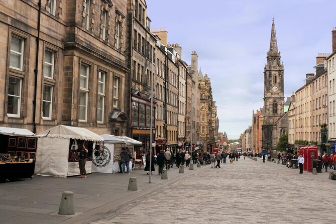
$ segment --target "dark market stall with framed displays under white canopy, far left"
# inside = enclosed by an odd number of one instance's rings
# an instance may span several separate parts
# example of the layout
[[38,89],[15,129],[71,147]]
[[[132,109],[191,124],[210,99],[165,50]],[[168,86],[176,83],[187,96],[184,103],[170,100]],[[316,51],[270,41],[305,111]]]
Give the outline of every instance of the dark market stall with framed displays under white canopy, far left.
[[37,141],[27,129],[0,127],[0,181],[32,177]]

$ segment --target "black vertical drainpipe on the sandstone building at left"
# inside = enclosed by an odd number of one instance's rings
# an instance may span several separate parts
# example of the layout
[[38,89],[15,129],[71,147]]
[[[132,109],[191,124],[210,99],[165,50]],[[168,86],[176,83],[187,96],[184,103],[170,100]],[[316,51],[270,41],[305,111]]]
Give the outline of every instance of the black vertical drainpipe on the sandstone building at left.
[[37,21],[37,38],[36,38],[36,58],[35,58],[35,85],[34,85],[34,100],[33,100],[33,124],[34,129],[33,132],[36,134],[36,98],[37,98],[37,77],[38,77],[38,65],[39,65],[39,46],[40,46],[40,25],[41,25],[41,0],[37,4],[39,6],[39,14],[38,14],[38,21]]

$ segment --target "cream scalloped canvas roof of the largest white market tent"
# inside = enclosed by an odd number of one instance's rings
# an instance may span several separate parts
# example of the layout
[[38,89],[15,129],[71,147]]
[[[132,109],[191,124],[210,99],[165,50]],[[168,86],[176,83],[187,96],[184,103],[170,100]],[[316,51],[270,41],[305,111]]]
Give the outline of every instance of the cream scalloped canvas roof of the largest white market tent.
[[46,131],[39,133],[41,137],[48,138],[64,138],[64,139],[80,139],[91,141],[104,141],[99,135],[78,127],[71,127],[65,125],[58,125]]

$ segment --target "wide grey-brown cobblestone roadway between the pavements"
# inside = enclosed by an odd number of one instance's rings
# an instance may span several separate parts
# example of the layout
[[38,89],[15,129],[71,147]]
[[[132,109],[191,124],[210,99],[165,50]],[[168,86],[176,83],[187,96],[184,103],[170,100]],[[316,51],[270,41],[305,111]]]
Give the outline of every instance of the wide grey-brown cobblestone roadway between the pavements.
[[91,223],[332,223],[335,184],[325,172],[242,157],[194,170]]

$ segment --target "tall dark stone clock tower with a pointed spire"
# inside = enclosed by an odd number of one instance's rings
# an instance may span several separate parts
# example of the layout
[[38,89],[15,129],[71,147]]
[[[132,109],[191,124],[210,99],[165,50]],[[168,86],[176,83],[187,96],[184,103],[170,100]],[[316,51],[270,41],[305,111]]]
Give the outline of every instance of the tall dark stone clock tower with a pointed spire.
[[279,137],[286,132],[284,112],[284,66],[281,63],[275,34],[274,19],[272,21],[270,50],[267,52],[267,63],[264,68],[264,123],[262,138],[264,149],[275,149]]

